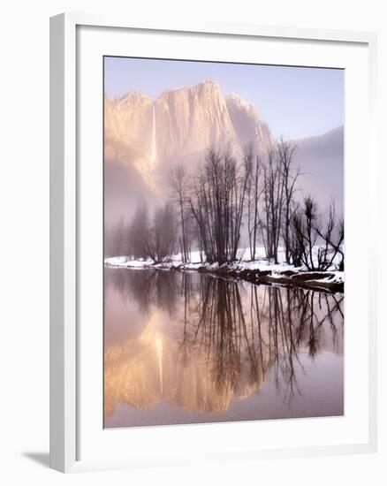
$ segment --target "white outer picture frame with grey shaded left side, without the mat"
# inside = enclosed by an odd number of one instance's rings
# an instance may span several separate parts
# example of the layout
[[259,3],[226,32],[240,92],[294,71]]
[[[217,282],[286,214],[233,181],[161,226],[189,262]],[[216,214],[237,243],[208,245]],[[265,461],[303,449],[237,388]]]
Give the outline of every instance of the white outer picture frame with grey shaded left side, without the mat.
[[[130,454],[112,459],[97,453],[91,459],[82,459],[80,450],[80,380],[79,366],[83,347],[80,346],[80,201],[82,186],[79,180],[78,125],[78,83],[80,77],[80,57],[78,53],[77,29],[92,27],[102,29],[124,29],[125,31],[149,32],[153,34],[178,33],[228,36],[238,39],[281,39],[284,42],[310,41],[336,44],[361,45],[367,49],[368,71],[363,72],[368,80],[368,163],[365,171],[369,179],[368,189],[376,187],[376,35],[345,31],[308,30],[288,27],[257,27],[252,25],[167,25],[159,26],[156,21],[133,25],[130,20],[114,17],[99,17],[84,14],[61,14],[50,19],[50,467],[62,472],[76,472],[115,467],[146,467],[166,464],[189,463],[192,458],[176,456],[171,450],[157,459],[143,449],[136,457]],[[121,32],[123,32],[121,30]],[[112,54],[112,52],[109,52]],[[319,59],[315,59],[319,65]],[[368,121],[369,120],[369,121]],[[102,163],[102,159],[101,159]],[[83,183],[82,183],[83,184]],[[355,184],[355,182],[351,182]],[[102,193],[102,187],[101,187]],[[376,194],[369,190],[369,201],[365,201],[369,212],[369,228],[375,222]],[[368,258],[376,262],[376,242],[372,234],[367,235]],[[370,275],[367,275],[369,278]],[[345,284],[346,285],[346,284]],[[282,458],[294,455],[338,454],[376,451],[376,294],[368,289],[366,296],[368,314],[368,387],[367,397],[367,438],[365,440],[344,441],[337,444],[313,444],[294,448],[279,446],[268,449],[261,446],[247,451],[232,452],[230,448],[216,451],[209,460]],[[102,353],[102,350],[101,350]],[[98,379],[102,380],[102,376]],[[365,417],[364,417],[365,418]],[[178,426],[180,427],[180,426]],[[175,428],[175,429],[178,429]],[[203,426],[190,426],[200,435]],[[207,426],[206,426],[207,427]],[[160,430],[161,428],[158,428]],[[235,429],[235,428],[234,428]],[[186,429],[181,429],[186,430]],[[215,429],[214,429],[215,430]],[[216,429],[218,430],[218,429]],[[246,429],[245,429],[246,430]],[[153,430],[137,429],[136,437],[147,434],[152,438]],[[175,433],[175,432],[174,432]],[[217,432],[214,432],[217,433]],[[240,432],[239,432],[240,433]],[[180,434],[181,436],[181,434]],[[168,444],[166,449],[168,449]],[[140,448],[139,448],[140,449]],[[200,458],[198,456],[199,459]]]

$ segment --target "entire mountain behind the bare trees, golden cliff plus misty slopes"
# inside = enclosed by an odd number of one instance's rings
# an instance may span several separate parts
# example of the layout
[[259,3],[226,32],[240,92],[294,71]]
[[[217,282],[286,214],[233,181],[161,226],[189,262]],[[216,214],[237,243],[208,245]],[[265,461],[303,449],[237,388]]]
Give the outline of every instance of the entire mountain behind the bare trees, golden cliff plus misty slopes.
[[[192,171],[211,146],[241,156],[248,144],[266,152],[274,142],[254,106],[239,95],[224,96],[213,81],[165,91],[155,101],[143,93],[105,97],[104,110],[107,224],[117,223],[123,208],[125,217],[131,217],[130,209],[141,197],[157,201],[165,195],[166,177],[176,163]],[[333,198],[341,212],[343,127],[293,141],[295,166],[303,172],[300,198],[313,194],[322,208]]]

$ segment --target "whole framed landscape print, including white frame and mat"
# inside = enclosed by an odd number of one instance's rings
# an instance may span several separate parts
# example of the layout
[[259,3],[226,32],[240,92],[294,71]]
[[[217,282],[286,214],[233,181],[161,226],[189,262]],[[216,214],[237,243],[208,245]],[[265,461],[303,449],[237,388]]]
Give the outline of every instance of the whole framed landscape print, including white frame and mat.
[[376,449],[375,44],[51,19],[51,467]]

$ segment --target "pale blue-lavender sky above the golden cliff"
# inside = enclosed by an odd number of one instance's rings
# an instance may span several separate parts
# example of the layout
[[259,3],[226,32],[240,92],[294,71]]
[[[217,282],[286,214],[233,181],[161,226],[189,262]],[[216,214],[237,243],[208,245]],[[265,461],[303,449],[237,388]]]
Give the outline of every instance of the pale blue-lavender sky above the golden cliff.
[[344,124],[343,70],[131,57],[105,57],[104,63],[110,98],[141,91],[156,99],[165,90],[213,80],[224,95],[253,103],[275,138],[321,135]]

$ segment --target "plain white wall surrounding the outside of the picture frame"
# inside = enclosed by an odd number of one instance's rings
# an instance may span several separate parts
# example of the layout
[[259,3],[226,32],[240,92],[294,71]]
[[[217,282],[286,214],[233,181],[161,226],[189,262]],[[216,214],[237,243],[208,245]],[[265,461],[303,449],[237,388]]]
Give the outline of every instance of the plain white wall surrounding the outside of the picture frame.
[[[163,25],[186,16],[259,25],[377,32],[379,140],[387,129],[387,15],[382,0],[14,0],[3,4],[0,27],[0,482],[6,485],[82,484],[372,484],[387,482],[386,353],[379,346],[380,452],[368,456],[262,461],[243,466],[192,467],[60,475],[47,467],[49,452],[49,16],[61,11],[125,12]],[[384,122],[384,123],[383,123]],[[380,151],[380,188],[386,180]],[[381,191],[382,193],[382,191]],[[386,191],[381,204],[386,208]],[[383,210],[380,217],[385,224]],[[380,248],[385,232],[380,230]],[[385,262],[376,269],[379,342],[387,286]],[[347,325],[350,325],[348,323]],[[361,383],[360,383],[361,385]]]

